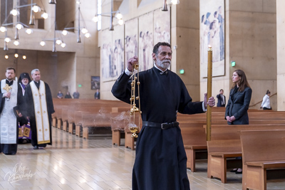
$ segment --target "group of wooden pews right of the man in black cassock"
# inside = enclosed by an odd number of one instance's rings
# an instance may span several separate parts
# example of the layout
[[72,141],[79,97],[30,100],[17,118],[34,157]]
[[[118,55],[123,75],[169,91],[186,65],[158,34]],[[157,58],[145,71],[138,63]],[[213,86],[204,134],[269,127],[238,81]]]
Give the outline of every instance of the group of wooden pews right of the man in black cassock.
[[[207,151],[208,178],[227,183],[227,164],[243,168],[243,189],[266,189],[266,171],[285,171],[285,112],[249,110],[249,125],[227,125],[224,107],[212,108],[211,140],[207,115],[177,115],[187,168],[195,172],[197,152]],[[242,157],[242,159],[236,159]],[[285,175],[278,176],[285,178]]]

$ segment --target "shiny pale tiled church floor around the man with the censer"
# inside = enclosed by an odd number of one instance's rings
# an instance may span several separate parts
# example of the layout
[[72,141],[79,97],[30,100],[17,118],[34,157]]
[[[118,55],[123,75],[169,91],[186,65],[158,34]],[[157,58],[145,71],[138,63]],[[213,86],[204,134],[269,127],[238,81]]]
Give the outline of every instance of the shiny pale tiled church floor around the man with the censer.
[[[82,139],[53,128],[53,146],[19,144],[16,155],[0,154],[0,189],[131,189],[135,151],[108,139]],[[227,172],[228,184],[207,178],[207,162],[188,170],[192,190],[242,189],[242,174]],[[285,179],[267,189],[285,189]]]

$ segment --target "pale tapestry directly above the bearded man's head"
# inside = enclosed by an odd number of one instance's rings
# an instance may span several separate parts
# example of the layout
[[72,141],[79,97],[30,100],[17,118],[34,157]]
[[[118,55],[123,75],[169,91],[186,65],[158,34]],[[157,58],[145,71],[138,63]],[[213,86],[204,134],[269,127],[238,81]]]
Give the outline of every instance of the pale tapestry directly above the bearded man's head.
[[[170,7],[168,7],[168,10],[170,10]],[[155,10],[153,13],[153,25],[154,45],[158,42],[170,43],[170,11]]]

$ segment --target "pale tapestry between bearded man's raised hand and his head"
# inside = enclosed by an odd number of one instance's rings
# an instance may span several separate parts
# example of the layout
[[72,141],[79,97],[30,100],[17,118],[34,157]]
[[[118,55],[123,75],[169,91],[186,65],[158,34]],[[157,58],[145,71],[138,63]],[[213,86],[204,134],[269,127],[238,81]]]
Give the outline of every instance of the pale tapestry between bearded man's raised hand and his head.
[[140,16],[139,18],[139,61],[140,70],[147,70],[153,67],[153,12]]

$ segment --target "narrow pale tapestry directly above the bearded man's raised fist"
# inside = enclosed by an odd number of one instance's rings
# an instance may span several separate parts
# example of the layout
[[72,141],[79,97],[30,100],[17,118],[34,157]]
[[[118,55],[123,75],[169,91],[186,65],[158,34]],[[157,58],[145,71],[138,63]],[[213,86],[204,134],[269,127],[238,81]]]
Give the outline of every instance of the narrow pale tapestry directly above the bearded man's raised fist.
[[125,22],[125,67],[133,56],[138,56],[138,18]]

